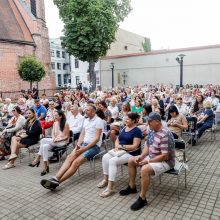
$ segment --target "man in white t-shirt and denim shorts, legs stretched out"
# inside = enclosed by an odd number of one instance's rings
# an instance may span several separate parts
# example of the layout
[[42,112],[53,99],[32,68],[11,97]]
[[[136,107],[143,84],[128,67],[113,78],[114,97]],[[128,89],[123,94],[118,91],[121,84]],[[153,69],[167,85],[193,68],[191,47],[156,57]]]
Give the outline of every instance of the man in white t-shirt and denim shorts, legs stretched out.
[[96,115],[93,105],[86,107],[88,118],[85,119],[82,132],[76,148],[67,157],[58,173],[51,179],[41,180],[41,185],[50,190],[55,190],[60,183],[71,177],[86,160],[91,160],[100,152],[104,123]]

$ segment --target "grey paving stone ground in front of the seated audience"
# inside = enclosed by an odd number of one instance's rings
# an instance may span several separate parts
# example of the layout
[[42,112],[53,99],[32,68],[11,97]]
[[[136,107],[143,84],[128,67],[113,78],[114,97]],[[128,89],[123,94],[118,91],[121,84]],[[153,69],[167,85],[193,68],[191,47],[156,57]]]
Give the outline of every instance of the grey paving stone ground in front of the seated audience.
[[[27,166],[28,153],[22,154],[16,168],[0,170],[0,219],[220,219],[220,132],[215,141],[206,133],[197,146],[188,146],[187,189],[184,188],[184,172],[181,175],[180,200],[177,196],[177,179],[165,174],[162,183],[152,187],[147,195],[149,205],[133,212],[130,205],[138,194],[121,197],[118,193],[109,198],[100,198],[96,187],[102,179],[101,160],[97,160],[96,179],[89,162],[82,165],[80,176],[76,173],[51,192],[40,185],[40,168]],[[32,159],[32,158],[31,158]],[[6,161],[0,162],[2,167]],[[51,177],[59,164],[50,165]],[[127,186],[127,167],[120,169],[115,184],[119,191]],[[138,175],[139,176],[139,175]],[[137,178],[140,189],[140,179]]]

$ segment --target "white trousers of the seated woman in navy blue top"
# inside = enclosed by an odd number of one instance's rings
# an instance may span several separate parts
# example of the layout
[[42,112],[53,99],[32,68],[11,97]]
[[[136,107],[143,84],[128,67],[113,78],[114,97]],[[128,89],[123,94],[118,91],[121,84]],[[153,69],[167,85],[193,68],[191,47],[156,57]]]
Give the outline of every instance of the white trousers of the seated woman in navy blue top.
[[107,153],[102,157],[103,173],[108,176],[109,181],[115,181],[118,166],[127,163],[128,159],[131,157],[133,156],[128,153],[120,157],[113,157]]

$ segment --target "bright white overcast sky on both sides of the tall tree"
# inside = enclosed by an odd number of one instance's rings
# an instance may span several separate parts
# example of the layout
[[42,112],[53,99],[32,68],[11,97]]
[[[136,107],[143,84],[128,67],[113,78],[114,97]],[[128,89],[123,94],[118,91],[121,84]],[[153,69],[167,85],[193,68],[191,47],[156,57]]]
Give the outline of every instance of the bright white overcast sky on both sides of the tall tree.
[[[120,28],[150,38],[153,50],[220,44],[220,0],[131,0]],[[53,0],[45,0],[50,38],[63,23]]]

